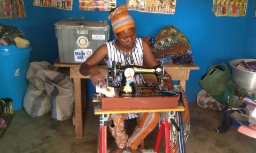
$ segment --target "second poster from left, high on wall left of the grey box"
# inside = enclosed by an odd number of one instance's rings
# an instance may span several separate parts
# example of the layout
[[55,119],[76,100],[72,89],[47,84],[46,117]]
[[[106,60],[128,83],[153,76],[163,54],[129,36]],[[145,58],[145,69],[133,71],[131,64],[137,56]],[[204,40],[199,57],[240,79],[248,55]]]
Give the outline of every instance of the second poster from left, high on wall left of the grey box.
[[53,7],[71,11],[73,0],[34,0],[34,6]]

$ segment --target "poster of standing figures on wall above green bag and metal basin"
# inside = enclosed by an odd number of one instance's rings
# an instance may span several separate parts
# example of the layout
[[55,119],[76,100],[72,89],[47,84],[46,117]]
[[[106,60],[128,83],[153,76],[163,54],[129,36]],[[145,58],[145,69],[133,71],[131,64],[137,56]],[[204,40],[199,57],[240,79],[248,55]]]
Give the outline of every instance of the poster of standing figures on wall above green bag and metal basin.
[[213,0],[213,13],[216,17],[243,17],[247,0]]

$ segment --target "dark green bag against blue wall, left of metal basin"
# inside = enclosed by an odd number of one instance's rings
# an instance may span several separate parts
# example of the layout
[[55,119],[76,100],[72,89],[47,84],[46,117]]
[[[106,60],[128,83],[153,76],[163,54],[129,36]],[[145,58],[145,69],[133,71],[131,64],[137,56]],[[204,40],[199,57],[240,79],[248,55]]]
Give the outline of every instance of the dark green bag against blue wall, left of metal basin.
[[208,68],[206,75],[198,80],[198,84],[212,96],[221,95],[232,79],[230,69],[225,63]]

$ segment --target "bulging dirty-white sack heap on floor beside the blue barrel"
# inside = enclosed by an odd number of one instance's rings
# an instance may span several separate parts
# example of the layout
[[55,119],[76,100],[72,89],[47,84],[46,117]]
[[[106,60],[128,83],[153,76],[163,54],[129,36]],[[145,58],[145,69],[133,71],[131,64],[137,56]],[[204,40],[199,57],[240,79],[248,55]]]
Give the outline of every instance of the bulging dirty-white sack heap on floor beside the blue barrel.
[[[57,120],[71,117],[74,107],[72,79],[66,74],[58,73],[56,69],[46,61],[30,63],[27,73],[29,86],[24,97],[24,108],[32,117],[49,111],[52,118]],[[45,92],[44,99],[40,99]],[[50,109],[46,106],[50,106]]]

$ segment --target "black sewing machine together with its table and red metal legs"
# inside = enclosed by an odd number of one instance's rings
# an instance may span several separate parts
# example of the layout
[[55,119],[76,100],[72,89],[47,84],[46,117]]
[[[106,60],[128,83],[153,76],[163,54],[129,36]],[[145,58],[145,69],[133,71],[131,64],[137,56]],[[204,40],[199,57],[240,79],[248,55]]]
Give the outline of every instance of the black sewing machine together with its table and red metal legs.
[[[156,88],[152,86],[134,84],[133,77],[137,74],[156,75],[157,81],[160,84],[159,90],[156,90]],[[120,81],[117,81],[118,75],[122,76]],[[180,112],[177,111],[183,111],[184,107],[178,106],[178,95],[162,93],[160,91],[163,87],[163,80],[166,78],[168,77],[164,76],[164,65],[158,65],[153,68],[135,65],[121,66],[120,63],[113,61],[112,69],[108,70],[107,86],[115,86],[114,84],[118,84],[118,87],[114,88],[115,95],[113,97],[106,97],[100,96],[99,94],[99,96],[97,96],[97,102],[100,101],[100,104],[94,104],[95,114],[100,115],[98,152],[105,153],[107,150],[106,126],[115,126],[113,120],[109,118],[109,114],[137,112],[162,112],[159,122],[160,129],[154,150],[144,150],[145,152],[158,152],[163,131],[165,131],[165,152],[169,152],[170,148],[174,146],[172,144],[175,144],[176,148],[179,146],[179,149],[184,150],[184,143],[178,143],[172,134],[175,133],[180,136],[177,138],[181,138],[181,135],[183,135],[182,127],[180,126],[181,115]],[[147,92],[145,93],[144,91]],[[179,123],[179,125],[177,123]],[[175,143],[173,143],[174,141]]]

